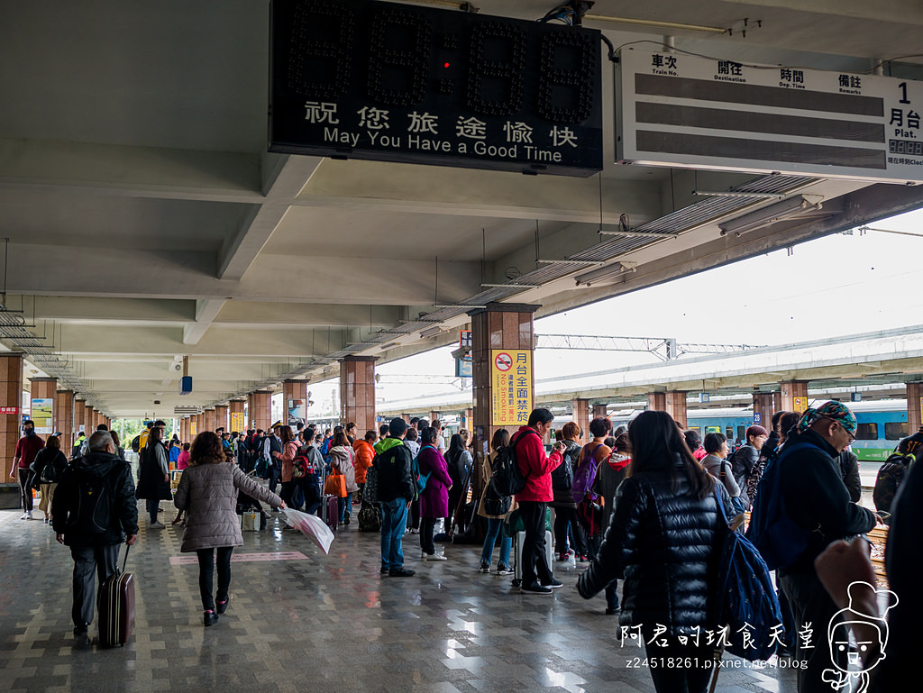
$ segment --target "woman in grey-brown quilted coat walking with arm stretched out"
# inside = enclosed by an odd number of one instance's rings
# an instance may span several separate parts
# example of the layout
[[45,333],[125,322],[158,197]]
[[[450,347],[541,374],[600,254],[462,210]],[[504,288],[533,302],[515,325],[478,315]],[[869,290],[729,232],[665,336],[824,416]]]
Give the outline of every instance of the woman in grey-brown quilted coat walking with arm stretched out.
[[[195,551],[198,555],[198,591],[206,626],[217,623],[218,615],[227,609],[231,554],[234,546],[244,544],[237,518],[238,489],[273,508],[285,508],[282,498],[247,476],[236,464],[227,462],[221,438],[211,431],[198,434],[192,442],[189,467],[180,477],[174,505],[187,513],[180,551]],[[218,550],[218,592],[212,595],[215,549]]]

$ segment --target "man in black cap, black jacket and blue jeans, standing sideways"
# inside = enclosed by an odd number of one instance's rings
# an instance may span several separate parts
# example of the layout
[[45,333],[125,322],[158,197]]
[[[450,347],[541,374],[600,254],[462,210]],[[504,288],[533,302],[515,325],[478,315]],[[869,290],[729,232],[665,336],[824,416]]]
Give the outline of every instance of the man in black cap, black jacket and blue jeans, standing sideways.
[[403,567],[403,535],[407,526],[407,503],[414,497],[410,448],[403,444],[407,424],[391,419],[388,437],[375,446],[372,464],[378,471],[378,501],[381,504],[381,574],[409,578],[414,570]]

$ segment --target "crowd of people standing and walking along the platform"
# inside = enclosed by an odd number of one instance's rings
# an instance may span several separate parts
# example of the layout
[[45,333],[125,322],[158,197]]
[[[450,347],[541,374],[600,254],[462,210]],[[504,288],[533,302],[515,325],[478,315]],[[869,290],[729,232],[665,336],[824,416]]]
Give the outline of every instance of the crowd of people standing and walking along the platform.
[[[525,595],[550,595],[561,588],[554,564],[572,556],[585,568],[577,591],[586,599],[605,591],[605,613],[619,615],[622,632],[637,629],[650,658],[695,664],[652,667],[658,691],[705,690],[715,648],[689,636],[720,625],[714,605],[721,595],[714,585],[722,508],[733,508],[733,514],[752,510],[755,519],[764,508],[758,500],[770,495],[783,499],[787,520],[804,534],[802,544],[797,544],[800,535],[792,535],[797,551],[776,570],[785,620],[778,651],[802,663],[798,690],[830,690],[831,672],[845,676],[850,667],[848,648],[811,643],[802,637],[806,628],[824,631],[829,624],[833,632],[842,622],[863,635],[877,627],[881,635],[874,592],[859,606],[845,582],[849,576],[875,584],[868,549],[850,540],[881,523],[879,515],[857,504],[857,459],[848,449],[857,422],[845,405],[830,401],[805,412],[777,412],[772,430],[750,426],[733,452],[722,434],[708,433],[702,440],[665,412],[641,412],[627,428],[614,431],[608,419],[593,419],[585,441],[579,424],[552,432],[552,421],[548,410],[534,410],[518,430],[498,429],[489,454],[476,460],[471,436],[460,431],[447,445],[438,420],[396,418],[364,436],[357,435],[354,424],[325,431],[277,424],[265,432],[206,431],[191,443],[164,443],[166,425],[152,422],[132,441],[140,456],[137,484],[117,435],[104,426],[78,440],[68,461],[57,436],[43,441],[26,422],[16,472],[23,518],[30,518],[30,489],[38,485],[46,521],[71,549],[78,637],[86,636],[92,621],[94,573],[101,581],[111,575],[119,544],[136,541],[137,499],[147,501],[151,529],[164,527],[158,520],[160,502],[174,501],[177,518],[183,517],[182,551],[198,556],[203,622],[210,626],[228,608],[231,556],[234,546],[243,544],[241,503],[249,500],[260,512],[261,502],[315,513],[331,491],[339,499],[331,524],[349,524],[354,504],[378,508],[383,576],[414,576],[404,565],[408,533],[419,534],[422,561],[448,559],[437,549],[440,538],[445,544],[462,536],[483,537],[482,573],[490,572],[499,544],[495,574],[518,572]],[[917,438],[923,442],[923,433],[916,436],[898,449],[916,447]],[[550,449],[549,437],[555,439]],[[509,460],[521,486],[502,512],[490,512],[494,506],[483,501],[497,468]],[[174,489],[171,465],[183,472]],[[920,565],[913,532],[918,504],[911,494],[921,473],[912,468],[893,503],[889,579],[903,608],[893,609],[889,651],[910,647],[908,631],[918,613],[909,583]],[[105,517],[92,512],[88,517],[87,504],[80,502],[88,484],[107,485],[113,504]],[[552,529],[553,556],[546,545]],[[518,558],[511,556],[514,537]],[[849,608],[865,620],[847,623]],[[894,642],[898,636],[906,640]],[[885,657],[888,642],[885,630],[874,656],[861,650],[852,657],[854,669],[876,669],[870,677],[873,690],[885,689],[876,682],[899,680],[906,667]]]

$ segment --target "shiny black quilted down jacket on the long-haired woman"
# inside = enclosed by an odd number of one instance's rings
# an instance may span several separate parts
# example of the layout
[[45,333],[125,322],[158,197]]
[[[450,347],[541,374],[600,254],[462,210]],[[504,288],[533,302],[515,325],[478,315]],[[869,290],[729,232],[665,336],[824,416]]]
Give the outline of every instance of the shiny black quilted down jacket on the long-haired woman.
[[[716,487],[729,504],[724,487]],[[578,591],[589,599],[624,578],[621,625],[661,624],[670,636],[713,627],[720,517],[715,497],[693,496],[685,478],[675,489],[665,472],[634,473],[618,488],[611,524]]]

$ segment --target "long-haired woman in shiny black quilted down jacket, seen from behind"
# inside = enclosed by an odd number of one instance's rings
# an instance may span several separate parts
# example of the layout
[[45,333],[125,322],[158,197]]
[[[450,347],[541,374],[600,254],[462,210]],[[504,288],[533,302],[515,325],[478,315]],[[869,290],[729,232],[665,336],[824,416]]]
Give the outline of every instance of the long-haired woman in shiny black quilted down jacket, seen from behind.
[[[590,599],[624,577],[623,634],[644,639],[657,691],[704,691],[713,659],[705,630],[713,620],[721,512],[713,477],[696,462],[677,424],[666,412],[641,412],[629,426],[631,467],[618,488],[603,545],[577,581]],[[730,498],[718,484],[725,507]],[[665,627],[662,630],[660,627]],[[679,636],[701,632],[687,644]],[[653,640],[655,633],[660,633]],[[623,635],[623,637],[625,637]],[[694,659],[668,666],[668,658]]]

